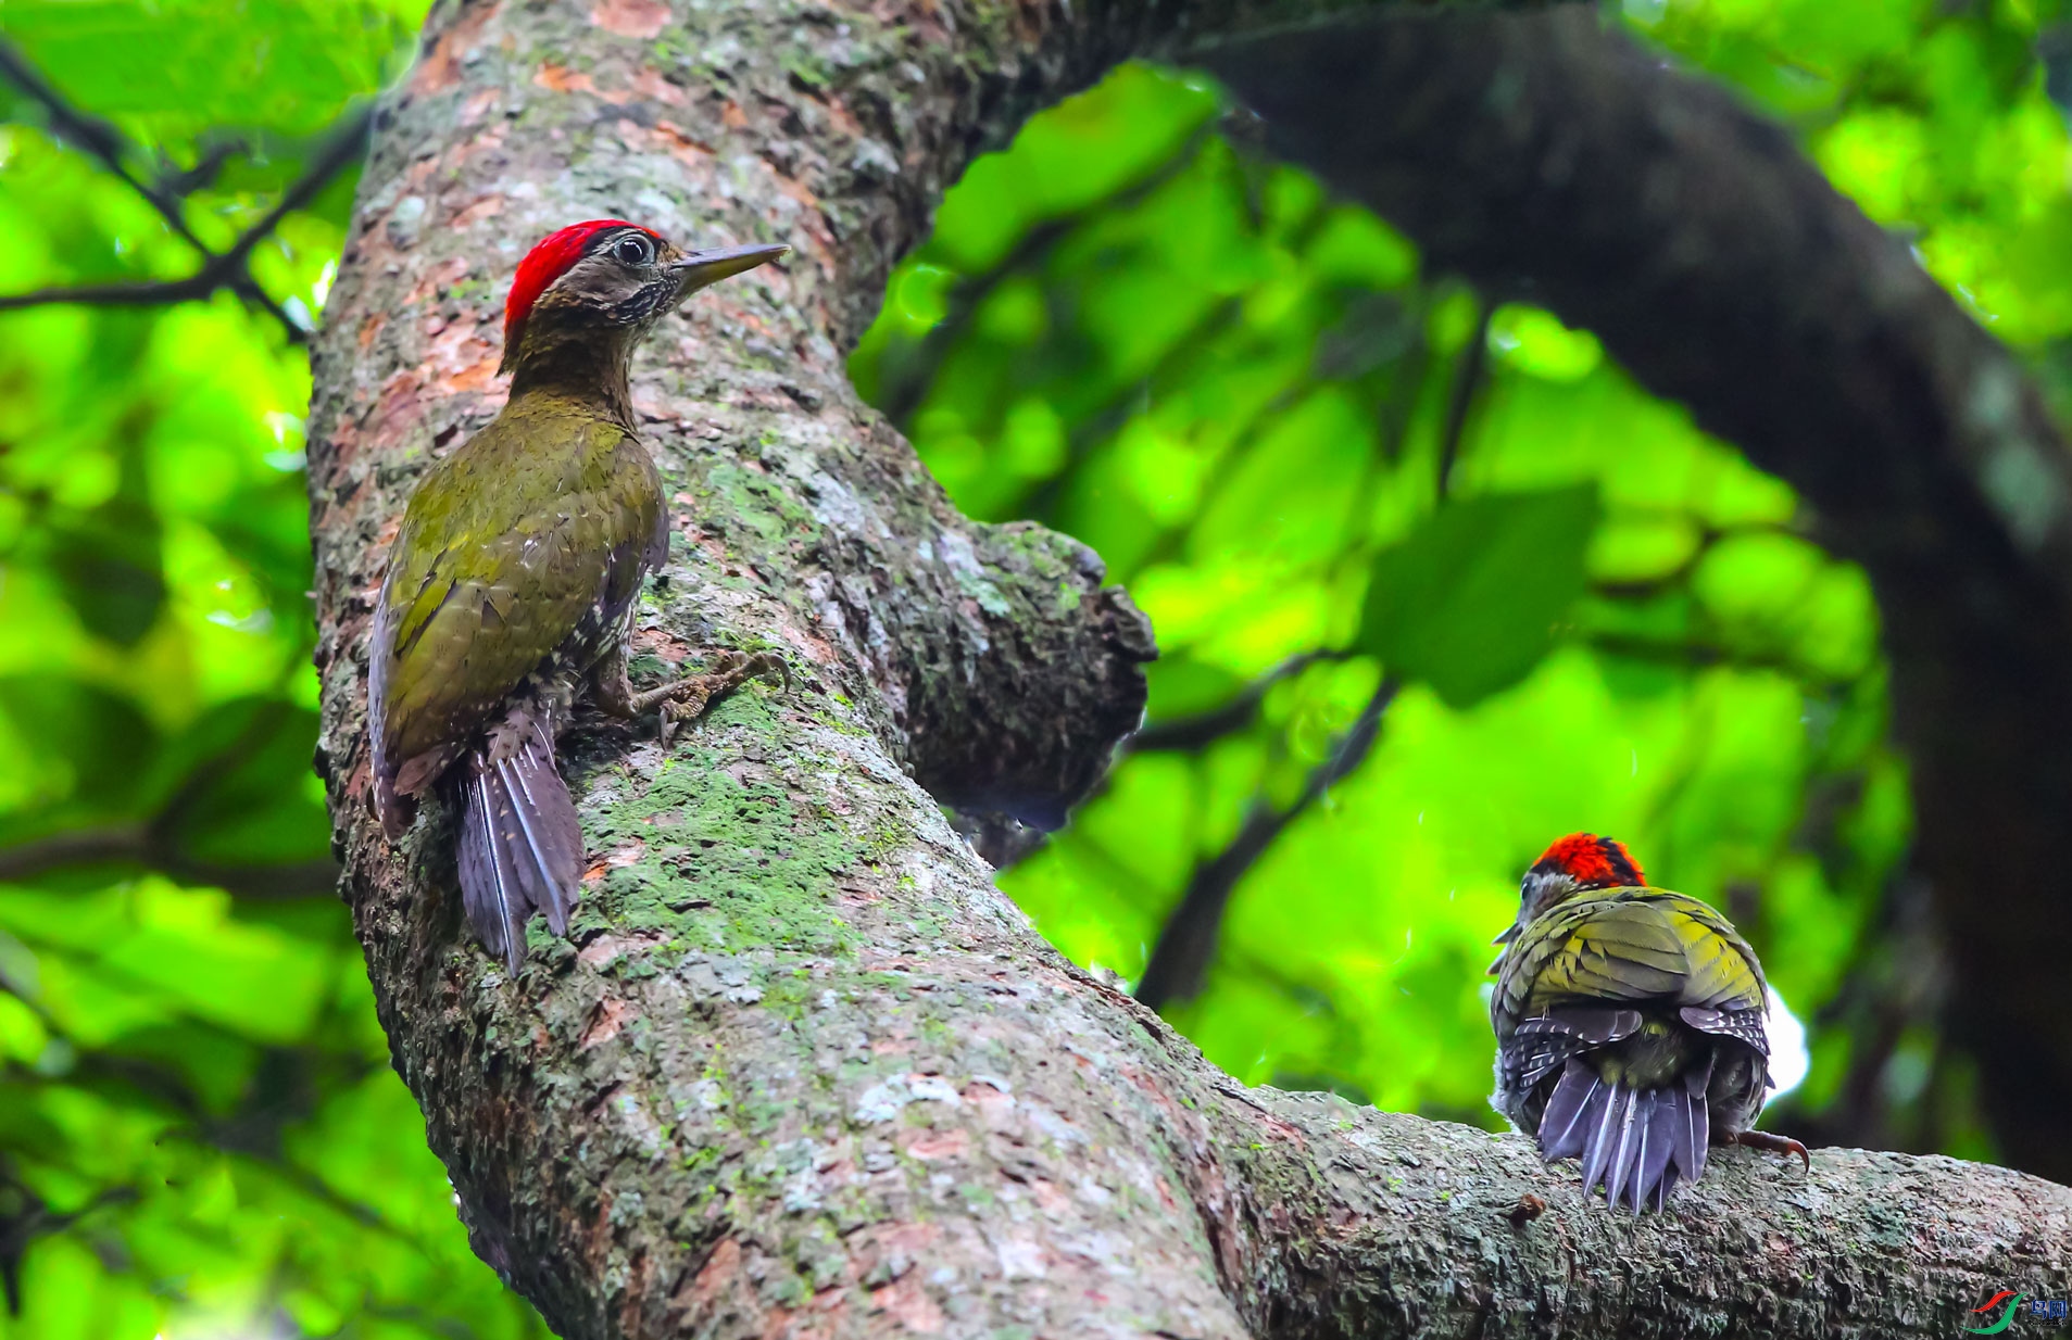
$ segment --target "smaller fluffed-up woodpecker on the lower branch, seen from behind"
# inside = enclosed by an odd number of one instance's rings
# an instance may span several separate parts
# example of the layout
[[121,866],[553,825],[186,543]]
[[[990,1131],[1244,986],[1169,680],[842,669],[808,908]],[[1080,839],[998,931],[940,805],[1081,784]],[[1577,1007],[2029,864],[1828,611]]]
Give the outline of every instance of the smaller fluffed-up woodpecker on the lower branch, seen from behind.
[[1620,843],[1548,847],[1496,942],[1490,1102],[1542,1158],[1581,1158],[1585,1193],[1660,1210],[1714,1143],[1807,1158],[1749,1129],[1769,1087],[1755,951],[1705,903],[1649,889]]

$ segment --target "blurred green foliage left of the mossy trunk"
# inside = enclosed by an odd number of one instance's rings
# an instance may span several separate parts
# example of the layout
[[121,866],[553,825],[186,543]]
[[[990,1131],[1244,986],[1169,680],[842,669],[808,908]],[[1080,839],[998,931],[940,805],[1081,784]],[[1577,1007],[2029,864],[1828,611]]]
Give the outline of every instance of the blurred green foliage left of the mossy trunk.
[[[222,251],[423,10],[8,0],[0,29]],[[199,267],[48,108],[0,81],[0,292]],[[253,257],[292,321],[350,201]],[[0,315],[8,1340],[545,1334],[468,1251],[329,895],[288,336],[228,294]]]

